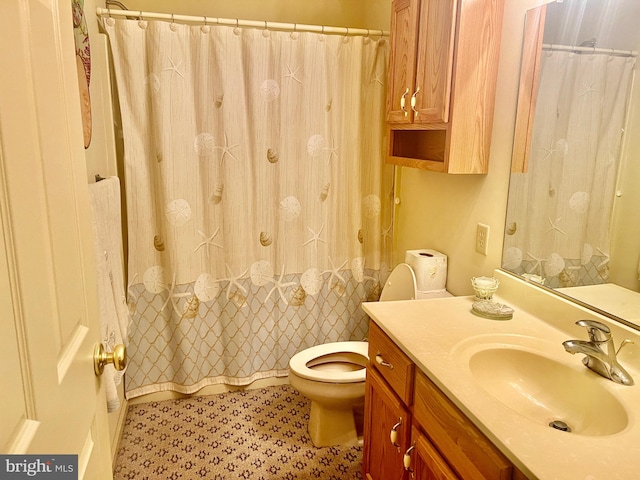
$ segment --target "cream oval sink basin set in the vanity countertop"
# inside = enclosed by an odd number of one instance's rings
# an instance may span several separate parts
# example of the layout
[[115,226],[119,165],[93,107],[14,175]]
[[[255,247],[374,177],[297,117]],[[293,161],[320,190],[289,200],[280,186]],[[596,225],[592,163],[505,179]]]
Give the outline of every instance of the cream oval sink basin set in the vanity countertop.
[[497,400],[541,425],[560,420],[581,435],[612,435],[629,423],[624,406],[587,368],[537,353],[488,348],[469,358],[478,383]]

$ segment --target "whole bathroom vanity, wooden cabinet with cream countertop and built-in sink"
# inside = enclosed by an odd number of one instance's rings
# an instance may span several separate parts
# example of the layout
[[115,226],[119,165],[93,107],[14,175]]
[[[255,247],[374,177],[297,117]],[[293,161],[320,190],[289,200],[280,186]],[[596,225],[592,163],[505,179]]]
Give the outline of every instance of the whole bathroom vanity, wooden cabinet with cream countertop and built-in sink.
[[[372,319],[365,478],[635,478],[640,387],[595,374],[562,346],[588,338],[577,320],[607,319],[496,276],[511,320],[472,314],[473,297],[363,304]],[[640,383],[638,332],[609,326],[616,347],[636,342],[618,359]]]

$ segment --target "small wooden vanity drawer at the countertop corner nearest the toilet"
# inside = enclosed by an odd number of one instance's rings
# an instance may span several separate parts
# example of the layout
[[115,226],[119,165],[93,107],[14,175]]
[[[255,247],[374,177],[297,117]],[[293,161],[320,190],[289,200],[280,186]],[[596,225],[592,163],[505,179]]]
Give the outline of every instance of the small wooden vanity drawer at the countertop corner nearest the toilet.
[[402,401],[411,405],[414,364],[375,322],[369,323],[369,363]]

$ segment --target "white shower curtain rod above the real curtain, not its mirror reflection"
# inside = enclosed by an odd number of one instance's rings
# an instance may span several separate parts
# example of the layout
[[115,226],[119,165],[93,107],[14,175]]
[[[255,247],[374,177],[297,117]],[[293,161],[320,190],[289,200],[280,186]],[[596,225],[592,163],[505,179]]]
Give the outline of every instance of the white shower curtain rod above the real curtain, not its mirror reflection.
[[388,37],[386,30],[370,30],[349,27],[328,27],[324,25],[304,25],[302,23],[280,23],[257,20],[239,20],[237,18],[217,18],[207,16],[177,15],[173,13],[136,12],[133,10],[112,10],[110,8],[97,8],[96,13],[100,17],[134,17],[138,19],[153,18],[157,20],[170,20],[172,22],[196,23],[203,25],[229,25],[236,27],[253,27],[272,30],[285,30],[292,32],[316,32],[335,33],[341,35],[376,35]]

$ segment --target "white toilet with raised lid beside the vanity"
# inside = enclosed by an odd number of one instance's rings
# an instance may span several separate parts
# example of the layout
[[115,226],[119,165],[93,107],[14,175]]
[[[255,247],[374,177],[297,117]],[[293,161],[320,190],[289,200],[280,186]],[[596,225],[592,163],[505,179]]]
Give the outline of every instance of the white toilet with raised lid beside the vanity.
[[[410,265],[399,264],[387,279],[380,301],[451,296],[446,290],[419,292]],[[364,405],[369,343],[332,342],[295,354],[289,383],[311,400],[309,435],[316,447],[358,445],[354,410]]]

